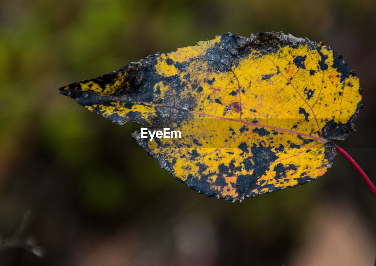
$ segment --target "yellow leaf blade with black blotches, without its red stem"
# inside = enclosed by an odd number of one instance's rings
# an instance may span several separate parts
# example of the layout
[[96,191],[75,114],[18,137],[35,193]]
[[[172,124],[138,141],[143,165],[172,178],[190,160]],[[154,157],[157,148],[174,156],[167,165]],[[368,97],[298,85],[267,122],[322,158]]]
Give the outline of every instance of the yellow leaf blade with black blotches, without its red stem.
[[355,73],[329,47],[279,32],[228,33],[60,88],[117,124],[180,130],[138,144],[174,177],[228,201],[323,175],[361,104]]

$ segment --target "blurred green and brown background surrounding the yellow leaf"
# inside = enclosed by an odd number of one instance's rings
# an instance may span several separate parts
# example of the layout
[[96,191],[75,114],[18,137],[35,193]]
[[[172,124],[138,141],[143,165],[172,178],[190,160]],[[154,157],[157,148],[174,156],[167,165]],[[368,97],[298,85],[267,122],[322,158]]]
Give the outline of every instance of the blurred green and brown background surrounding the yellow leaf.
[[294,189],[205,198],[137,147],[138,125],[58,94],[157,51],[280,30],[356,71],[365,107],[336,143],[376,183],[374,0],[1,1],[0,236],[18,236],[30,213],[20,239],[44,256],[3,248],[0,264],[373,265],[376,198],[343,156]]

